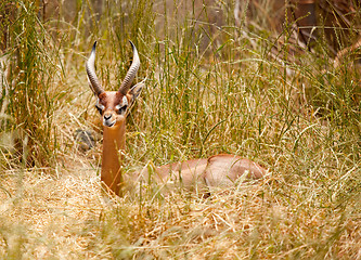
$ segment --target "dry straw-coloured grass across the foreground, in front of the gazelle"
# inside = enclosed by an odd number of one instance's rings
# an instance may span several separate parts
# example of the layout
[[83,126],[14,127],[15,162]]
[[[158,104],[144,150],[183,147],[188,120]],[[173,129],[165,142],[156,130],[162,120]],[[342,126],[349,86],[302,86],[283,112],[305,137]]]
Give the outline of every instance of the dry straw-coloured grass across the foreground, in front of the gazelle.
[[21,185],[14,173],[2,181],[13,194],[1,196],[0,252],[8,259],[359,259],[361,253],[358,200],[346,208],[320,205],[310,187],[281,177],[210,199],[176,193],[104,203],[87,164],[74,162],[57,177],[23,174]]

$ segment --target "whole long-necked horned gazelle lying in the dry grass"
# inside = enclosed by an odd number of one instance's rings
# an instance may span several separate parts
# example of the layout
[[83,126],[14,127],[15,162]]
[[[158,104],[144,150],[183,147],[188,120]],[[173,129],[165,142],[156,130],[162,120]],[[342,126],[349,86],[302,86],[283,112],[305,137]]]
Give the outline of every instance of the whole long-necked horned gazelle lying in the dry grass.
[[[140,66],[140,58],[136,46],[130,41],[133,50],[132,64],[121,82],[118,91],[104,91],[94,68],[96,41],[93,44],[89,60],[86,63],[88,81],[98,98],[95,107],[103,120],[103,152],[101,181],[105,187],[119,195],[124,184],[121,174],[121,151],[125,150],[126,116],[129,107],[140,94],[144,82],[131,87],[131,82]],[[155,181],[159,184],[169,182],[181,183],[189,190],[210,188],[230,185],[240,177],[258,179],[265,176],[266,169],[258,164],[243,159],[236,155],[214,155],[207,159],[191,159],[181,162],[160,166],[154,169]],[[132,179],[149,180],[149,169],[144,168]]]

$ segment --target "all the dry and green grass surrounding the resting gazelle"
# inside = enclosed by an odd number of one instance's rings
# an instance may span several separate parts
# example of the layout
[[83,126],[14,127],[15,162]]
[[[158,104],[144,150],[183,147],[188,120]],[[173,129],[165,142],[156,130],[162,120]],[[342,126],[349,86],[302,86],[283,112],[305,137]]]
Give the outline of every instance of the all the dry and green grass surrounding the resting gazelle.
[[[0,3],[0,258],[361,259],[360,49],[334,64],[360,35],[358,1],[331,30],[318,18],[312,49],[269,1],[54,2]],[[99,78],[117,89],[129,39],[147,80],[126,174],[233,153],[269,176],[210,198],[140,184],[105,203],[85,61],[98,40]]]

